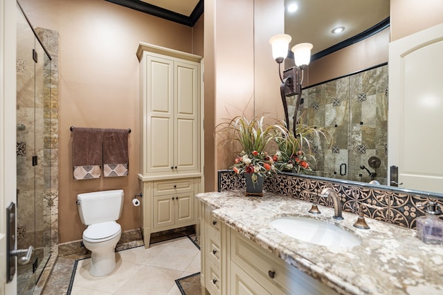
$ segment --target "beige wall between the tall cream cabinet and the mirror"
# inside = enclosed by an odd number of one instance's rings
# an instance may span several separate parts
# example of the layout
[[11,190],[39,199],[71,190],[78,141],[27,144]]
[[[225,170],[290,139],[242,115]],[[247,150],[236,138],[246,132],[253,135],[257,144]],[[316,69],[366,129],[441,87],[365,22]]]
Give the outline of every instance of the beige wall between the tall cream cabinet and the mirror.
[[[205,190],[217,189],[217,170],[233,164],[217,124],[236,115],[280,110],[278,65],[269,38],[284,32],[283,0],[205,1]],[[233,9],[235,7],[235,9]],[[269,69],[272,70],[269,70]]]

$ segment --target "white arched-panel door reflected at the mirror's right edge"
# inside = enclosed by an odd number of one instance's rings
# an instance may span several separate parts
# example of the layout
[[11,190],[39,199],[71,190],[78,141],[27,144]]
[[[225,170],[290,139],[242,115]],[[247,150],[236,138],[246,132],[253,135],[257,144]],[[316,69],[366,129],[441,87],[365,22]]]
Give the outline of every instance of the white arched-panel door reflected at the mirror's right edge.
[[388,161],[400,187],[443,193],[443,24],[389,48]]

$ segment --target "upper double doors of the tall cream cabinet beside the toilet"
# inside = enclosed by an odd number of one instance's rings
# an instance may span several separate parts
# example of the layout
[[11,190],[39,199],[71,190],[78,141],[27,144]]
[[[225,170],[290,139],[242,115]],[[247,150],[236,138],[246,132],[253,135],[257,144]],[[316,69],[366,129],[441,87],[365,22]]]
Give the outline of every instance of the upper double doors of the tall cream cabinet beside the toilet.
[[143,176],[200,172],[200,64],[183,57],[143,52]]

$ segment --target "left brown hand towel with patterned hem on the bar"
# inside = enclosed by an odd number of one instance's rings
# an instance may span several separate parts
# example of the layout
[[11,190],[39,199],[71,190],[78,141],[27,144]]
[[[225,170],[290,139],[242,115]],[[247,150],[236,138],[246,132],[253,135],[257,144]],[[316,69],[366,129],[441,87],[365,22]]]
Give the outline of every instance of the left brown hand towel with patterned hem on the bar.
[[103,129],[78,128],[72,131],[74,179],[100,178]]

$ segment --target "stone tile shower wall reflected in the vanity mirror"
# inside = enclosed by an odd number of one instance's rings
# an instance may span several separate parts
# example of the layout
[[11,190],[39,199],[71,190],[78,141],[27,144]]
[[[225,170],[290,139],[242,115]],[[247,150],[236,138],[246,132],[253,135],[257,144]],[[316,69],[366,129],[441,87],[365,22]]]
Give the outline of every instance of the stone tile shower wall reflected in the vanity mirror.
[[[328,178],[370,182],[365,165],[387,184],[388,171],[388,66],[378,66],[360,73],[305,88],[300,104],[302,123],[319,126],[332,135],[331,145],[314,143],[315,175]],[[293,98],[288,99],[293,111]],[[320,142],[321,143],[321,142]],[[372,169],[371,156],[380,159]]]

